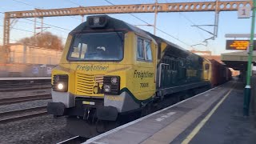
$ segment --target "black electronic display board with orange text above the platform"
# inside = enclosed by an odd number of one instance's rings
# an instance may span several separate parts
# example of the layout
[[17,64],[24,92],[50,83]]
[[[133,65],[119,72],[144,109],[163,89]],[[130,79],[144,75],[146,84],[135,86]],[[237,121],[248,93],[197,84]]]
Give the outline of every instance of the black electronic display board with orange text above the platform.
[[[250,45],[249,40],[226,40],[226,50],[247,50]],[[256,41],[254,41],[254,50]]]

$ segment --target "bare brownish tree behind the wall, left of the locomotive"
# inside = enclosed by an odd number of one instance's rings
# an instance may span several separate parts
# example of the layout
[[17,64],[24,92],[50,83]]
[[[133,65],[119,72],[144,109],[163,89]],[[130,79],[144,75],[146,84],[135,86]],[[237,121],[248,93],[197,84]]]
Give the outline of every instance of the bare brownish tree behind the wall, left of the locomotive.
[[57,35],[45,32],[32,36],[30,38],[22,38],[19,42],[26,46],[37,46],[46,49],[63,50],[62,39]]

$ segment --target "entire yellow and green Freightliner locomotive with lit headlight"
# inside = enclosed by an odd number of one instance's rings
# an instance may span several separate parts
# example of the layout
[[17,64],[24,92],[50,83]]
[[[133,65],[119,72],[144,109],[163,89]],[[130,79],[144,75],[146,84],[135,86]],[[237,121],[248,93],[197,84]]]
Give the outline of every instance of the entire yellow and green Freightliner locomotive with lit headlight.
[[89,16],[70,32],[52,71],[47,111],[73,118],[73,131],[90,131],[82,134],[90,137],[99,121],[115,122],[165,95],[210,86],[207,62],[126,22]]

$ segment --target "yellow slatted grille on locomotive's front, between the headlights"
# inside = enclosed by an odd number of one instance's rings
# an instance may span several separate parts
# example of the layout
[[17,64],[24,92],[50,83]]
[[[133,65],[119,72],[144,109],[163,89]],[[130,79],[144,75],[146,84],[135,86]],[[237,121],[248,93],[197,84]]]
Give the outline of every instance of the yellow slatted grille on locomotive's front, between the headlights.
[[102,86],[103,75],[92,75],[76,73],[75,93],[86,96],[103,96],[102,94],[94,94],[94,86]]

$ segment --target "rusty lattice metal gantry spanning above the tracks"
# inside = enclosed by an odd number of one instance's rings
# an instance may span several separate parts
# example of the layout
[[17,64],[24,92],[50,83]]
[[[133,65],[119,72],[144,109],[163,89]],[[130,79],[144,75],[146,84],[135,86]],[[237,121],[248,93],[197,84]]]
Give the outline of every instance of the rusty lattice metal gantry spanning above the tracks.
[[218,14],[221,11],[237,11],[240,6],[252,6],[252,1],[175,2],[115,6],[79,6],[62,9],[35,9],[5,12],[3,45],[10,42],[10,26],[16,18],[44,18],[90,14],[168,13],[168,12],[215,12],[214,37],[218,31]]

